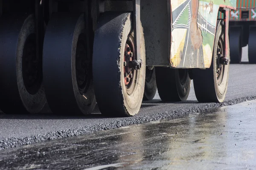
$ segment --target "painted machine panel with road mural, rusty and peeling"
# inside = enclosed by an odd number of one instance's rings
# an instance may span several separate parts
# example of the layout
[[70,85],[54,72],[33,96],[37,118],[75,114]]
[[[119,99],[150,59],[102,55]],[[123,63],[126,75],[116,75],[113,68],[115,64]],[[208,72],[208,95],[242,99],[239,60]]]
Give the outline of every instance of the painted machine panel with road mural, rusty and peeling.
[[236,8],[236,0],[171,0],[170,63],[176,68],[209,68],[219,7]]

